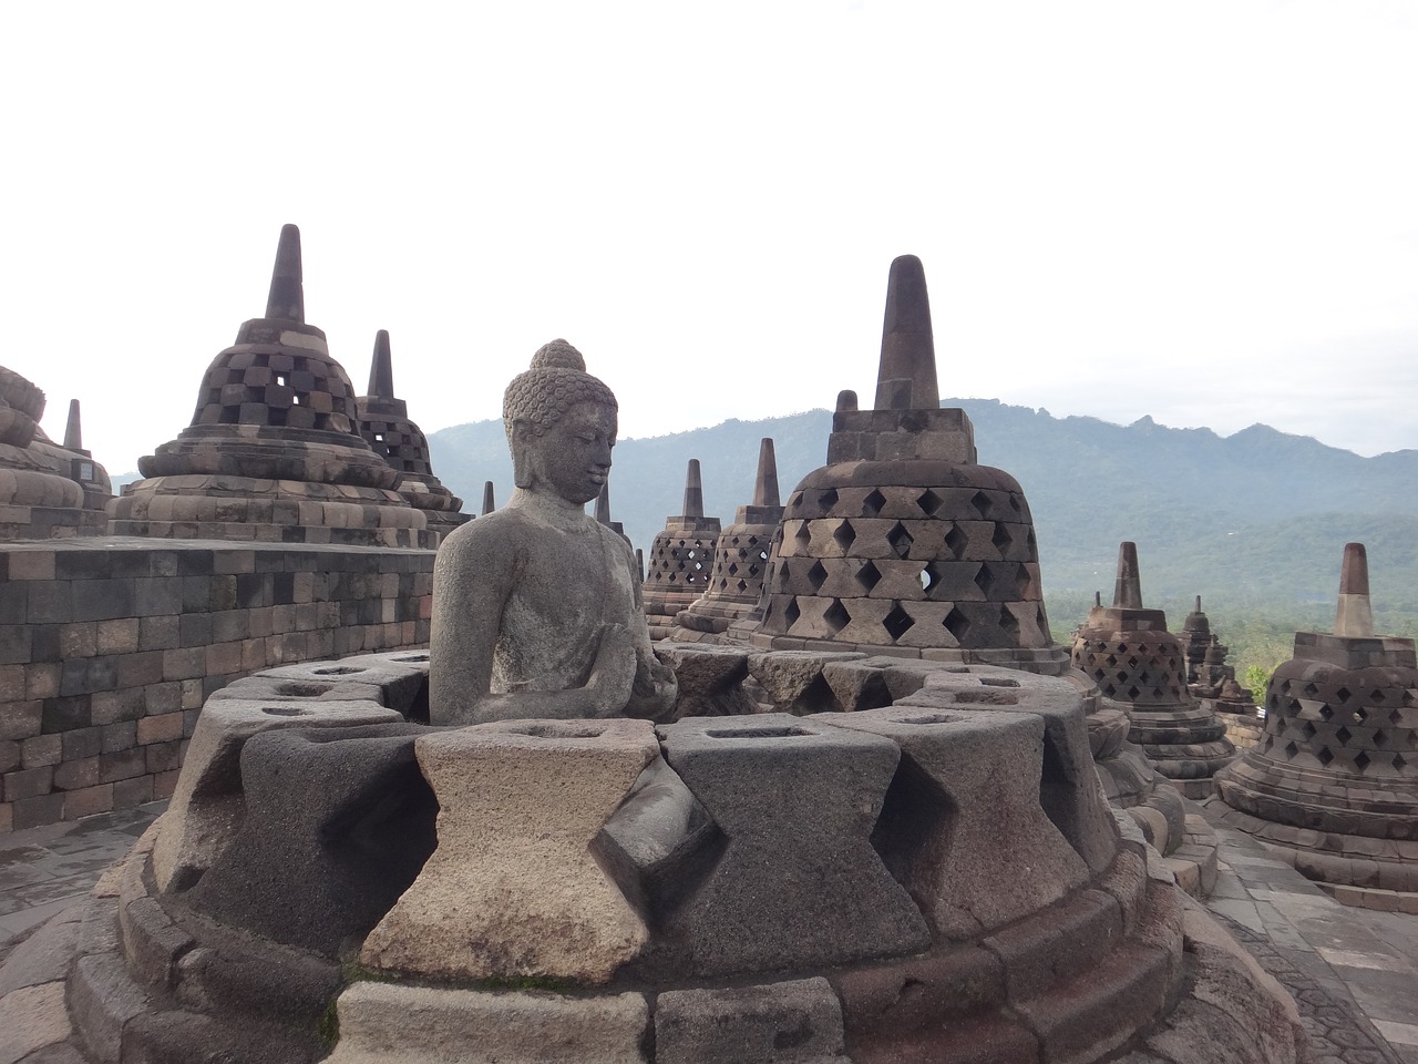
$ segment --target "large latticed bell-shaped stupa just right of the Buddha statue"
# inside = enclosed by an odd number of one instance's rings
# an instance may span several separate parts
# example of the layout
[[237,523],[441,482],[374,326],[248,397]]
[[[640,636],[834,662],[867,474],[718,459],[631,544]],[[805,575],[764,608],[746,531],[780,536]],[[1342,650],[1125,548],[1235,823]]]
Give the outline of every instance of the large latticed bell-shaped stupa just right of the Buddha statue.
[[827,465],[793,491],[752,641],[1062,672],[1029,506],[980,465],[964,410],[940,409],[920,260],[892,262],[876,409],[844,392]]

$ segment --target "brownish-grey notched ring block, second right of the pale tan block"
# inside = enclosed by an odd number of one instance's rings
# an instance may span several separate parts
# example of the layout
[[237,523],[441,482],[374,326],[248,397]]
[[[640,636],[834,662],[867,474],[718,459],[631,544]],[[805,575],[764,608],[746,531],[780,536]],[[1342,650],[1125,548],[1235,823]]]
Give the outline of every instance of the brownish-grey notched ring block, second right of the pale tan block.
[[974,938],[1088,881],[1039,806],[1042,718],[893,706],[808,719],[900,746],[872,841],[937,938]]

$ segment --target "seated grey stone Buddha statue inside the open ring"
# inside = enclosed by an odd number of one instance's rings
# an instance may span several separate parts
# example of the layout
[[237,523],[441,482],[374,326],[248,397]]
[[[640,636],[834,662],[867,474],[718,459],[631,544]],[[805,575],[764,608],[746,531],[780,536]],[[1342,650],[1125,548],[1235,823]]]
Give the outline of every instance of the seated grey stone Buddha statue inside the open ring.
[[668,718],[675,675],[651,651],[635,558],[586,514],[610,474],[617,409],[560,339],[508,386],[516,488],[434,563],[431,724]]

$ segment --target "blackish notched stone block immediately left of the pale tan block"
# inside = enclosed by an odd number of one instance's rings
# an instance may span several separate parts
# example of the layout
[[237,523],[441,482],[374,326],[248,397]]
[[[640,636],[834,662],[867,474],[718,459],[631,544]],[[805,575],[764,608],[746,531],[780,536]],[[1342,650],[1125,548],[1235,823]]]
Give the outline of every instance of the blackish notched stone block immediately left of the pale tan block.
[[187,894],[221,924],[335,956],[389,912],[432,853],[418,725],[281,729],[241,752],[245,820]]

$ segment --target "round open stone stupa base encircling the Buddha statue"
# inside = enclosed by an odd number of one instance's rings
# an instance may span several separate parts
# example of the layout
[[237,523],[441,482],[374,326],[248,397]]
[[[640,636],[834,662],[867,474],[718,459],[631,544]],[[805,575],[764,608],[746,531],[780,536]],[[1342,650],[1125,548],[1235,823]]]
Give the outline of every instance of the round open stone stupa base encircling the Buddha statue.
[[[915,678],[891,677],[886,705],[849,712],[698,716],[658,732],[634,721],[423,733],[381,724],[417,719],[420,657],[286,667],[208,702],[164,819],[64,931],[47,932],[67,943],[64,975],[16,987],[43,997],[37,1014],[52,1020],[33,1048],[72,1031],[84,1055],[71,1061],[313,1061],[337,1019],[330,1060],[346,1064],[1299,1060],[1293,1006],[1132,819],[1107,810],[1065,681],[912,663]],[[695,658],[686,648],[675,663],[682,687],[726,663]],[[804,665],[756,664],[770,681],[777,671],[780,697]],[[859,706],[888,678],[838,664],[827,689]],[[503,921],[498,904],[423,907],[445,922],[404,936],[390,965],[372,952],[379,933],[366,939],[377,912],[320,919],[347,912],[328,899],[369,855],[431,823],[418,799],[430,785],[438,847],[462,857],[424,864],[408,848],[393,863],[414,880],[401,905],[440,882],[445,897],[467,884],[492,901],[509,871],[532,867],[459,848],[501,786],[498,773],[435,767],[464,748],[492,755],[489,766],[515,755],[527,767],[516,779],[584,794],[545,814],[526,802],[498,813],[499,847],[535,865],[547,831],[567,853],[590,831],[597,860],[564,890],[516,880],[527,918]],[[427,783],[401,767],[410,753]],[[350,770],[311,785],[319,802],[296,793],[302,766],[336,762]],[[563,809],[586,823],[563,826]],[[597,809],[613,810],[600,830]],[[1001,843],[1008,860],[991,860]],[[262,861],[262,844],[281,860]],[[286,872],[309,867],[325,870],[311,884]],[[574,904],[591,887],[628,908]],[[244,912],[244,890],[279,918]],[[393,915],[380,928],[400,941]],[[362,941],[364,966],[350,968]],[[430,966],[468,941],[482,943],[481,976]],[[370,968],[394,970],[370,980]],[[60,1023],[65,1002],[72,1020]]]

